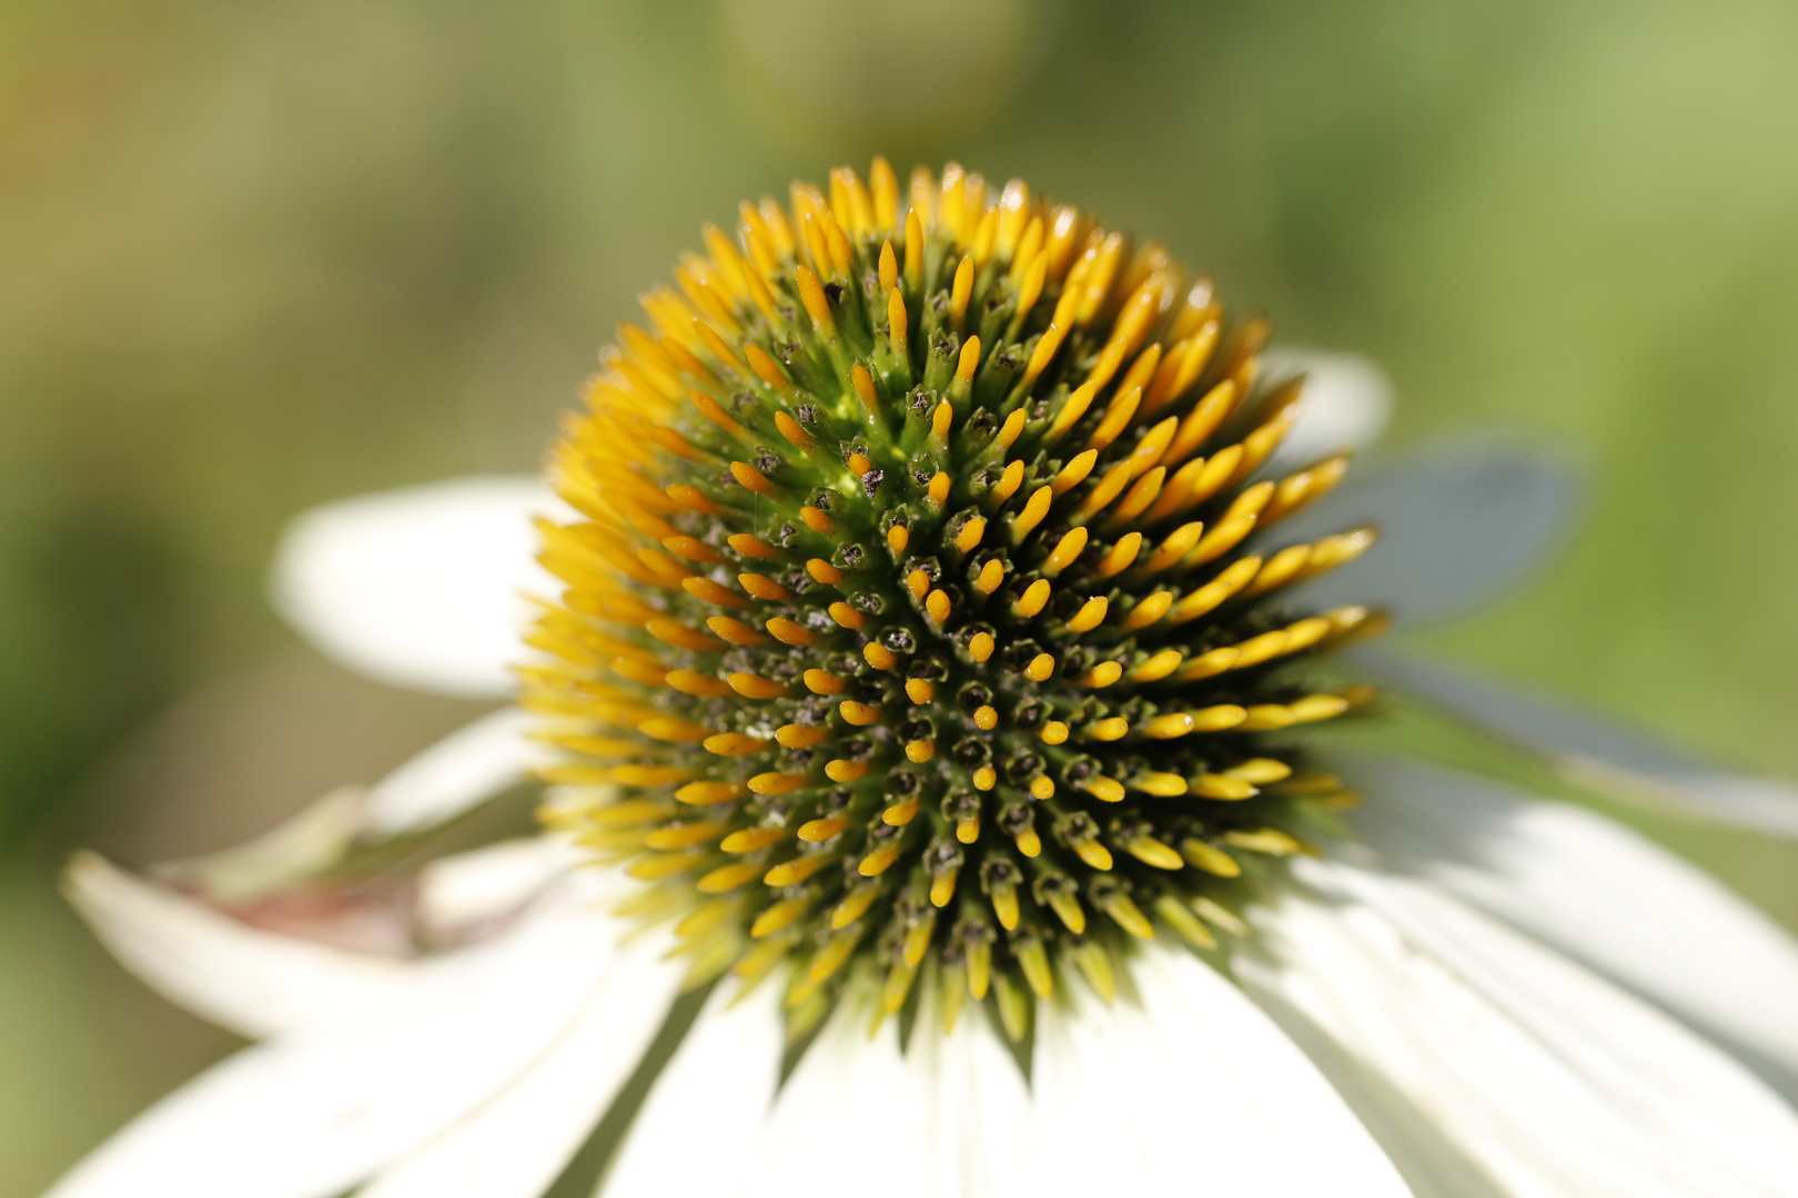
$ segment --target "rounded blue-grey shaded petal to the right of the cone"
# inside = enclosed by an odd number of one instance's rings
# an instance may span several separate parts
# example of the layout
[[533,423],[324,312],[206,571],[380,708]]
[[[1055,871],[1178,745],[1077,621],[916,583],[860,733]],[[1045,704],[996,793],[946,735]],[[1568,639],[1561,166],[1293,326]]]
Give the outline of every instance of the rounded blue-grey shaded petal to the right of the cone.
[[1275,526],[1298,544],[1374,524],[1379,544],[1295,593],[1304,607],[1390,605],[1402,627],[1478,607],[1521,582],[1562,541],[1577,508],[1573,471],[1539,451],[1438,449],[1347,481]]

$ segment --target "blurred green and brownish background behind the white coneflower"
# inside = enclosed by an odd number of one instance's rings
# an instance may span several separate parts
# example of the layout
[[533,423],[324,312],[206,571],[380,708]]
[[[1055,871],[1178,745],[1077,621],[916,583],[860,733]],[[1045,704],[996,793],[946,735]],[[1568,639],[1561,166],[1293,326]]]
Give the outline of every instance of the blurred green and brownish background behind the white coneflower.
[[[263,600],[282,523],[534,467],[705,219],[886,153],[1165,237],[1593,472],[1467,663],[1798,776],[1798,9],[1509,0],[0,5],[0,1194],[228,1047],[54,894],[471,708]],[[1798,925],[1798,853],[1640,821]]]

